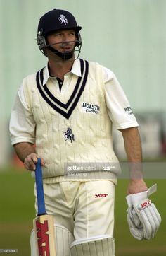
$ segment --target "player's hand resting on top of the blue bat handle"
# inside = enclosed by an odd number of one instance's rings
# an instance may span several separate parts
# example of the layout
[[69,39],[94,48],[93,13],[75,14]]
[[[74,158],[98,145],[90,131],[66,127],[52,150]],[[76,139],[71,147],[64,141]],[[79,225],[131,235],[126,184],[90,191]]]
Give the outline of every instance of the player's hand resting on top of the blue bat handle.
[[[37,156],[36,153],[30,153],[30,155],[28,155],[25,158],[25,161],[24,161],[25,168],[27,170],[35,170],[36,169],[36,164],[37,164],[37,158],[39,158],[39,156]],[[42,166],[45,165],[45,161],[42,158],[41,158],[41,165]]]

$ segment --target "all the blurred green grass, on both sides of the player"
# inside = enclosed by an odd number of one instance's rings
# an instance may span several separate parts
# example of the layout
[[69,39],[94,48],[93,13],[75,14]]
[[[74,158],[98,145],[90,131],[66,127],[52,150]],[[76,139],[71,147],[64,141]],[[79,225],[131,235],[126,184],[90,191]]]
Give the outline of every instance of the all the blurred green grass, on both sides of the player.
[[[116,256],[165,256],[166,210],[165,180],[146,180],[148,186],[158,183],[151,196],[162,216],[162,225],[153,240],[137,241],[129,233],[126,220],[125,192],[127,180],[119,180],[115,204]],[[30,256],[30,231],[34,218],[34,178],[26,170],[0,170],[0,249],[18,249],[14,255]],[[1,255],[7,255],[1,254]]]

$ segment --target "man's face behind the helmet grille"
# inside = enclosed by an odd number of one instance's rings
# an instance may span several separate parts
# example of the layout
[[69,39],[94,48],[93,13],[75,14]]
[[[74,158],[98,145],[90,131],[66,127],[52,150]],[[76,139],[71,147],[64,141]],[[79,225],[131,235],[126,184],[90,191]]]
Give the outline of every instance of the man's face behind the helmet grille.
[[58,52],[71,52],[75,48],[75,30],[58,30],[47,36],[48,45]]

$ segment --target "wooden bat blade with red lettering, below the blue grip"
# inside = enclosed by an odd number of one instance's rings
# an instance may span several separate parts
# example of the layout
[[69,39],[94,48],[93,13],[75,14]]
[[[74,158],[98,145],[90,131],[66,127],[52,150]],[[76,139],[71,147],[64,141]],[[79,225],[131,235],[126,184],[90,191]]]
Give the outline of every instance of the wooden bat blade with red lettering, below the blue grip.
[[37,216],[33,221],[39,256],[56,256],[53,216]]

